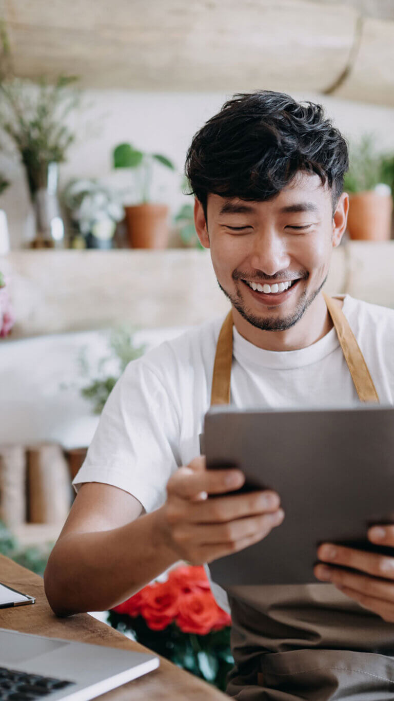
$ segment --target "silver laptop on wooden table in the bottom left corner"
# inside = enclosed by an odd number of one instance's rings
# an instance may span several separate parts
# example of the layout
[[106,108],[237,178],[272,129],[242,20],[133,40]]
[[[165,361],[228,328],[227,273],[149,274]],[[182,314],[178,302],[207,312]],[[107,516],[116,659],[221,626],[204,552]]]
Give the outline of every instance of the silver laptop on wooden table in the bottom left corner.
[[0,628],[0,701],[85,701],[158,666],[155,655]]

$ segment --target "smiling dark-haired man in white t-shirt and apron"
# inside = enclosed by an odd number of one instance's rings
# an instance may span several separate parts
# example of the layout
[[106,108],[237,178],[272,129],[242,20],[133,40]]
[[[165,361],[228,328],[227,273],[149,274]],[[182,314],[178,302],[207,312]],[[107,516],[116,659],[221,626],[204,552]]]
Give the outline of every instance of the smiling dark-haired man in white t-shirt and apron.
[[[232,317],[150,351],[115,386],[45,573],[55,613],[114,606],[179,559],[209,563],[283,521],[269,491],[207,498],[244,479],[207,472],[196,457],[222,325],[237,407],[349,404],[363,399],[358,366],[377,399],[394,403],[394,311],[349,296],[326,303],[321,292],[346,228],[347,168],[346,142],[322,108],[281,93],[239,95],[195,135],[186,168],[195,226]],[[335,319],[356,336],[357,358],[339,345]],[[394,547],[391,526],[368,537]],[[393,697],[394,557],[325,544],[318,558],[325,584],[227,592],[230,695]],[[213,591],[228,606],[226,592]]]

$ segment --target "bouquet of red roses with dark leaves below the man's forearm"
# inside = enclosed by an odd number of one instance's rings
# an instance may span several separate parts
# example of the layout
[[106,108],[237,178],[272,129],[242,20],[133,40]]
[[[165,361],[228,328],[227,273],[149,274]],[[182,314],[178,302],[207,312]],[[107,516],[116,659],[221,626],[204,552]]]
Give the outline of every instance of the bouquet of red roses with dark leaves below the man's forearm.
[[225,690],[233,665],[231,618],[216,604],[204,567],[178,566],[115,606],[109,622],[178,667]]

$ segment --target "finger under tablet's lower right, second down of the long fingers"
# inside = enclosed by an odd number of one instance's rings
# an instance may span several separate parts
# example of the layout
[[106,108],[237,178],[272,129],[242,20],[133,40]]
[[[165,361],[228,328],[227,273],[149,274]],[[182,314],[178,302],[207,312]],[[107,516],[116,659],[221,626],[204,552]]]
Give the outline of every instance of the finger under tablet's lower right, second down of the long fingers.
[[327,565],[316,565],[315,576],[323,582],[331,582],[337,587],[346,587],[367,597],[394,603],[394,584],[357,572],[349,572]]

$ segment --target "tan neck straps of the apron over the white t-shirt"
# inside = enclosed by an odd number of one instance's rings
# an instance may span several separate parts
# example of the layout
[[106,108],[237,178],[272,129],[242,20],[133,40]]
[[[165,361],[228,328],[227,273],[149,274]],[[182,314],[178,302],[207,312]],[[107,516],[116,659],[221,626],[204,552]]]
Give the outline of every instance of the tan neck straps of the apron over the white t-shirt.
[[[342,308],[339,306],[337,300],[328,297],[324,292],[323,297],[332,323],[335,326],[335,331],[337,332],[338,340],[360,402],[379,403],[377,390],[372,381],[367,363],[365,362],[363,353],[360,351],[360,347],[358,346]],[[214,404],[230,404],[232,325],[232,312],[230,311],[220,329],[216,346],[215,362],[213,364],[211,406]]]

